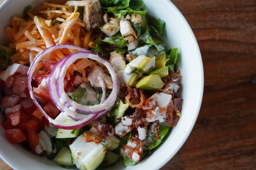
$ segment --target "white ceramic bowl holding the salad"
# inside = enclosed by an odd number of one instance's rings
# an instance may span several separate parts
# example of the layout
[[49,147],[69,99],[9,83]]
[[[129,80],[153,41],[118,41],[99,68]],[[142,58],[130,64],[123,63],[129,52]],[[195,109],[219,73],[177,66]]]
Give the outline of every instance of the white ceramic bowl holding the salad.
[[[0,6],[0,43],[7,43],[5,27],[11,17],[21,15],[24,7],[39,5],[45,0],[6,0]],[[169,48],[177,47],[181,59],[179,69],[182,79],[181,97],[184,99],[182,116],[177,126],[172,129],[166,141],[131,170],[157,170],[166,164],[180,149],[188,138],[197,119],[204,88],[204,71],[200,50],[195,36],[180,11],[170,0],[144,0],[148,14],[166,22],[165,40]],[[64,170],[53,161],[35,156],[19,145],[6,140],[4,130],[0,127],[0,157],[15,170]],[[109,170],[123,170],[122,162]]]

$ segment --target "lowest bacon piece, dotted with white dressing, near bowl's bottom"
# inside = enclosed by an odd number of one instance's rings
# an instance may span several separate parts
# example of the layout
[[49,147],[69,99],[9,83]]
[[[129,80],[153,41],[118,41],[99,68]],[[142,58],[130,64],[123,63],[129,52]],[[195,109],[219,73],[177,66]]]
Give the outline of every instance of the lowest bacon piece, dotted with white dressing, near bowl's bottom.
[[125,155],[135,162],[140,162],[143,155],[143,144],[140,140],[131,138],[128,143],[123,146]]

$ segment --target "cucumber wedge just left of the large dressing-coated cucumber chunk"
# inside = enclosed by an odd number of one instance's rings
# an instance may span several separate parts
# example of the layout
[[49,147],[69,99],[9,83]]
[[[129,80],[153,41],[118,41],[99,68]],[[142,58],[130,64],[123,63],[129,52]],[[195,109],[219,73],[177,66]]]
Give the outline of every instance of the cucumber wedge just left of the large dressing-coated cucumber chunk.
[[64,146],[61,148],[57,156],[53,159],[59,165],[73,165],[71,151],[68,147]]

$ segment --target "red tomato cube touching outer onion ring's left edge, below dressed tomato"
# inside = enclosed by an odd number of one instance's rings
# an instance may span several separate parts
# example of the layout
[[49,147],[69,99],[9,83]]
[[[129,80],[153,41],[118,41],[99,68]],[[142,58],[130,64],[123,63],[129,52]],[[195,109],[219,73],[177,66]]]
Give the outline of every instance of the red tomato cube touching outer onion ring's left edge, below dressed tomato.
[[22,98],[28,97],[27,75],[20,75],[15,78],[12,86],[12,93]]

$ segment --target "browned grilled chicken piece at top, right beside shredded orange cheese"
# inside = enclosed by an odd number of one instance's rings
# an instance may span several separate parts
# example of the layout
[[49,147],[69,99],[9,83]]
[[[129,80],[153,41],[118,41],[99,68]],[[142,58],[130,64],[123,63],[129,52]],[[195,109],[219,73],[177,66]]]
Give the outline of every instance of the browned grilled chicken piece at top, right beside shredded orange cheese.
[[84,6],[83,21],[86,24],[87,31],[102,26],[103,17],[99,0],[91,0],[91,3]]

